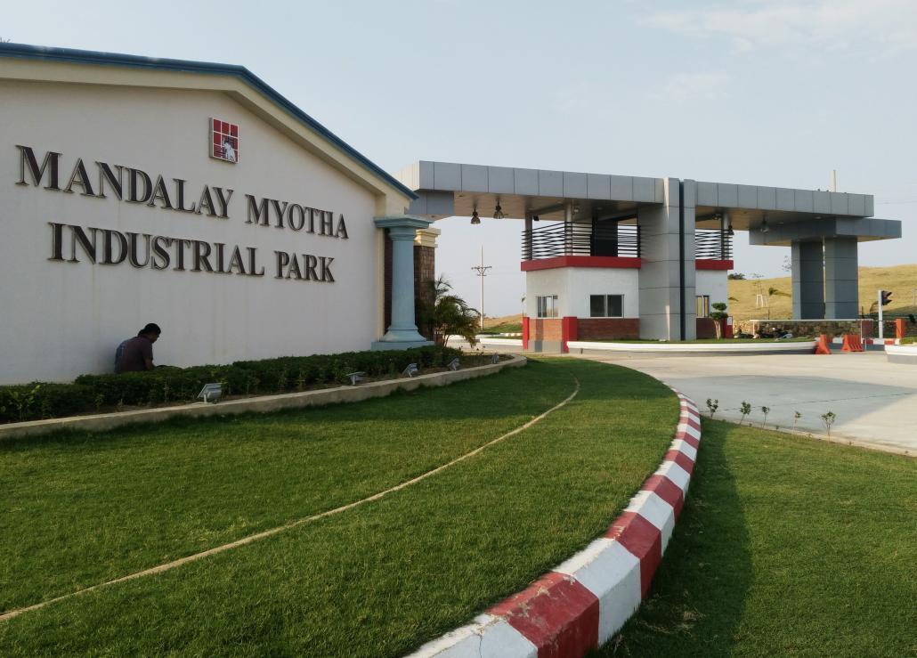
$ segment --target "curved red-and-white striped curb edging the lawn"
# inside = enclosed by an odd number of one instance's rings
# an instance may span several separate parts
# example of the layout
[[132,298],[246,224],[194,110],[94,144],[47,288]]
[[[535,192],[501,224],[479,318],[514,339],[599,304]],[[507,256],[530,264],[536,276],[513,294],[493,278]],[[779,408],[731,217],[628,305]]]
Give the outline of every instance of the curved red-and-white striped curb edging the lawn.
[[676,394],[679,424],[662,465],[600,539],[409,658],[579,658],[609,640],[646,597],[688,493],[701,415]]

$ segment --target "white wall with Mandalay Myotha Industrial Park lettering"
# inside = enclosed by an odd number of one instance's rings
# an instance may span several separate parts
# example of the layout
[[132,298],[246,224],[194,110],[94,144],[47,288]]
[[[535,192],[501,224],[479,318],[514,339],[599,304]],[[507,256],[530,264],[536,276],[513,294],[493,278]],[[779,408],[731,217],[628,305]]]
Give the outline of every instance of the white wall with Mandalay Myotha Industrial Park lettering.
[[[374,197],[303,145],[211,92],[0,96],[0,384],[111,372],[148,322],[158,364],[369,349]],[[214,118],[238,127],[232,159]]]

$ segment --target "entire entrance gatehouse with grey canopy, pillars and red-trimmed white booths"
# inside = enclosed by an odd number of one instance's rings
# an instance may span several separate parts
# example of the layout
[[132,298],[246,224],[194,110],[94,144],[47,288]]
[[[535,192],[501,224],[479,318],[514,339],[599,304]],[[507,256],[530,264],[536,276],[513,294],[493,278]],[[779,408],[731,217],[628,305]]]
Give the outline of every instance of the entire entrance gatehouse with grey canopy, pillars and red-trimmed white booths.
[[857,318],[857,244],[900,238],[872,195],[416,162],[409,212],[525,222],[523,343],[713,337],[733,240],[792,249],[793,317]]

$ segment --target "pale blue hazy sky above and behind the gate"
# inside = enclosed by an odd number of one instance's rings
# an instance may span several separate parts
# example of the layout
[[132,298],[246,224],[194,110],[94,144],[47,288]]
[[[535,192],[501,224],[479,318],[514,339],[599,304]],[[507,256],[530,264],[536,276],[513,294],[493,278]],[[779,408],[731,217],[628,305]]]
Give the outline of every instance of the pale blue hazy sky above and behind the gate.
[[[917,262],[913,0],[45,1],[4,7],[18,43],[242,64],[389,172],[418,160],[873,194]],[[2,99],[0,99],[2,100]],[[913,227],[913,228],[911,228]],[[522,222],[437,221],[437,272],[520,312]],[[737,233],[735,267],[789,249]]]

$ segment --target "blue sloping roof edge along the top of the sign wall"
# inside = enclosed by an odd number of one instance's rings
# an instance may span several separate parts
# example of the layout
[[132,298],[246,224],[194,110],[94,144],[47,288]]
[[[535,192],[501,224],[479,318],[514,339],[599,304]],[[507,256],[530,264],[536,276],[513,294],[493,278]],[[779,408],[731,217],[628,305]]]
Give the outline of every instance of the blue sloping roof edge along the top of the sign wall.
[[404,186],[392,174],[384,171],[375,162],[370,161],[365,155],[354,149],[346,141],[340,139],[333,132],[307,115],[299,107],[294,106],[289,100],[280,95],[270,84],[265,83],[257,75],[244,66],[235,64],[217,64],[209,61],[168,60],[157,57],[141,57],[138,55],[124,55],[116,52],[98,52],[95,50],[72,50],[69,48],[49,48],[45,46],[31,46],[23,43],[0,43],[0,57],[19,58],[26,60],[66,61],[79,64],[100,64],[104,66],[129,66],[138,69],[154,69],[157,71],[178,71],[193,73],[210,73],[212,75],[231,75],[242,80],[250,87],[271,100],[276,106],[281,107],[288,114],[304,123],[308,128],[315,130],[319,135],[347,153],[351,158],[362,164],[370,173],[379,176],[386,183],[391,184],[405,196],[415,199],[417,195]]

